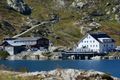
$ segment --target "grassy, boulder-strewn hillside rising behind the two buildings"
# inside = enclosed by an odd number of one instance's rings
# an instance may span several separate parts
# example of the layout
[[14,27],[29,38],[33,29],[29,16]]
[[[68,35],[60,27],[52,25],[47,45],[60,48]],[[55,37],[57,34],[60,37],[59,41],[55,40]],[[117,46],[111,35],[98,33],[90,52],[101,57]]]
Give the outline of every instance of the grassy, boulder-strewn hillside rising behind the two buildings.
[[6,0],[0,1],[0,39],[58,17],[55,24],[37,27],[23,36],[45,36],[55,45],[72,47],[86,32],[104,31],[120,45],[119,0],[24,0],[24,3],[32,11],[30,15],[10,9]]

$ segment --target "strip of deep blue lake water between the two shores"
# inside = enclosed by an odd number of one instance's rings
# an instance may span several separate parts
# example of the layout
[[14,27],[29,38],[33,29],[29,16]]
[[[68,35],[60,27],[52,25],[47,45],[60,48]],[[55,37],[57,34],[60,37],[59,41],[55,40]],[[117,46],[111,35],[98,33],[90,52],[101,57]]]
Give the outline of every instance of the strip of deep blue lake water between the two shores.
[[0,61],[16,71],[27,68],[29,71],[49,71],[56,68],[96,70],[120,78],[120,60],[45,60],[45,61]]

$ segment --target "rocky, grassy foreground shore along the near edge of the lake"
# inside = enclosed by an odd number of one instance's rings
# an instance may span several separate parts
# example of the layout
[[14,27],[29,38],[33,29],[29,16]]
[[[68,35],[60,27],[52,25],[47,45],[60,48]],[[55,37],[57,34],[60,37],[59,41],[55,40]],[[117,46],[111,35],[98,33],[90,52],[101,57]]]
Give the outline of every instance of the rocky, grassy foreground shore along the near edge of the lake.
[[11,72],[0,71],[1,80],[119,80],[108,74],[97,71],[82,71],[75,69],[56,69],[41,72]]

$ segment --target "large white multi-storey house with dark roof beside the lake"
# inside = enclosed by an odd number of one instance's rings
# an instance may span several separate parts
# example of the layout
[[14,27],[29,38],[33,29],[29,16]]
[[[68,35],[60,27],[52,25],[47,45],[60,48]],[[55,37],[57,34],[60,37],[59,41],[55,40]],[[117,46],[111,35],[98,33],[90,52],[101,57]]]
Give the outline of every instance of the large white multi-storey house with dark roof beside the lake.
[[116,48],[115,40],[105,33],[87,33],[74,51],[107,53]]

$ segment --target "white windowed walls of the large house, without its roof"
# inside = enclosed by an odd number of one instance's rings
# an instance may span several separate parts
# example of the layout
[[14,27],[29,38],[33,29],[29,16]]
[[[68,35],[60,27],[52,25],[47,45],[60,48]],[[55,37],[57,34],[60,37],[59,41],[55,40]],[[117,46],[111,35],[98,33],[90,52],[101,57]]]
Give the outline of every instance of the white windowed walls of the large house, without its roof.
[[[104,39],[104,38],[103,38]],[[116,48],[114,42],[104,42],[101,43],[94,39],[91,35],[87,34],[76,47],[77,50],[83,50],[83,47],[86,47],[87,50],[98,52],[98,53],[107,53]]]

